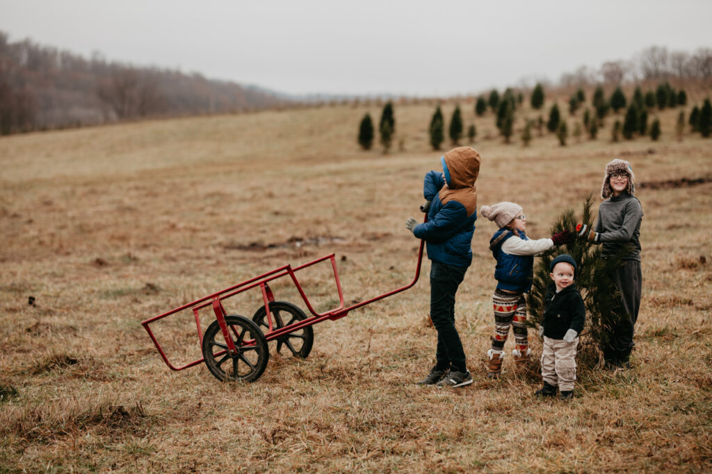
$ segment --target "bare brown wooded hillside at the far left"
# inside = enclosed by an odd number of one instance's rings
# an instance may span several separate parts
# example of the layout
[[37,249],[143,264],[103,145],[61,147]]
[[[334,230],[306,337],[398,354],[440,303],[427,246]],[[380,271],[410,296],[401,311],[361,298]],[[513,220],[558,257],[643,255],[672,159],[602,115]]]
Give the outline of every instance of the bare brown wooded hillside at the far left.
[[85,59],[0,31],[0,134],[145,117],[240,112],[290,101],[177,70]]

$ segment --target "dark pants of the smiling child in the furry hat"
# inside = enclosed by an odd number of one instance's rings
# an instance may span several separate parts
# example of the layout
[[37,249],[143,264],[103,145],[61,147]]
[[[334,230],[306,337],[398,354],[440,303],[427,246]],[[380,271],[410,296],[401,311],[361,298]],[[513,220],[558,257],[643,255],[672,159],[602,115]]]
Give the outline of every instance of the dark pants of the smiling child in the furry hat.
[[614,280],[621,293],[623,315],[610,324],[603,352],[609,362],[628,362],[633,349],[635,322],[638,320],[643,276],[640,262],[627,260],[616,270]]

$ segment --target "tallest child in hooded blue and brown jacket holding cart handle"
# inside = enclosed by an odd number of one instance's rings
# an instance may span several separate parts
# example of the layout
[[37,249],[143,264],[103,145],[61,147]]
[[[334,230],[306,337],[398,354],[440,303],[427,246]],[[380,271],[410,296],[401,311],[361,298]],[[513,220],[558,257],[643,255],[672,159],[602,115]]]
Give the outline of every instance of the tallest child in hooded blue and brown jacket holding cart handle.
[[419,384],[464,387],[472,383],[465,352],[455,328],[455,293],[472,263],[472,235],[477,219],[475,181],[480,155],[461,146],[441,158],[442,173],[425,175],[423,195],[431,201],[428,222],[410,217],[408,230],[424,239],[430,268],[430,318],[438,332],[436,363]]

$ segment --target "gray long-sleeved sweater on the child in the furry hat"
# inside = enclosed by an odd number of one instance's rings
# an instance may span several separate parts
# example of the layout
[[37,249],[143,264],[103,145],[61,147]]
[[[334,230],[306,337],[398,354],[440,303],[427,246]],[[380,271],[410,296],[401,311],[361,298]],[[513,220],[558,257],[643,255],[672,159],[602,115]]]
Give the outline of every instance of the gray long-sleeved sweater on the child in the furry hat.
[[632,249],[624,260],[640,262],[640,221],[643,208],[633,195],[622,193],[604,200],[598,208],[598,220],[593,230],[599,232],[598,241],[603,244],[601,257],[611,257],[624,244]]

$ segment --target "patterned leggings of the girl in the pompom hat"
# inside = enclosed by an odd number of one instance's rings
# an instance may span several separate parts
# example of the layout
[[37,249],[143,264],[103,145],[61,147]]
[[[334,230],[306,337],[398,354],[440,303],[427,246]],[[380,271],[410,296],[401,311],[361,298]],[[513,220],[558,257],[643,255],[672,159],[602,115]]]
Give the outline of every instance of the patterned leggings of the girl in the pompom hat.
[[527,335],[527,301],[524,293],[506,293],[495,290],[492,295],[494,306],[494,334],[492,336],[492,350],[504,350],[507,341],[509,326],[514,333],[514,347],[525,353],[529,347]]

